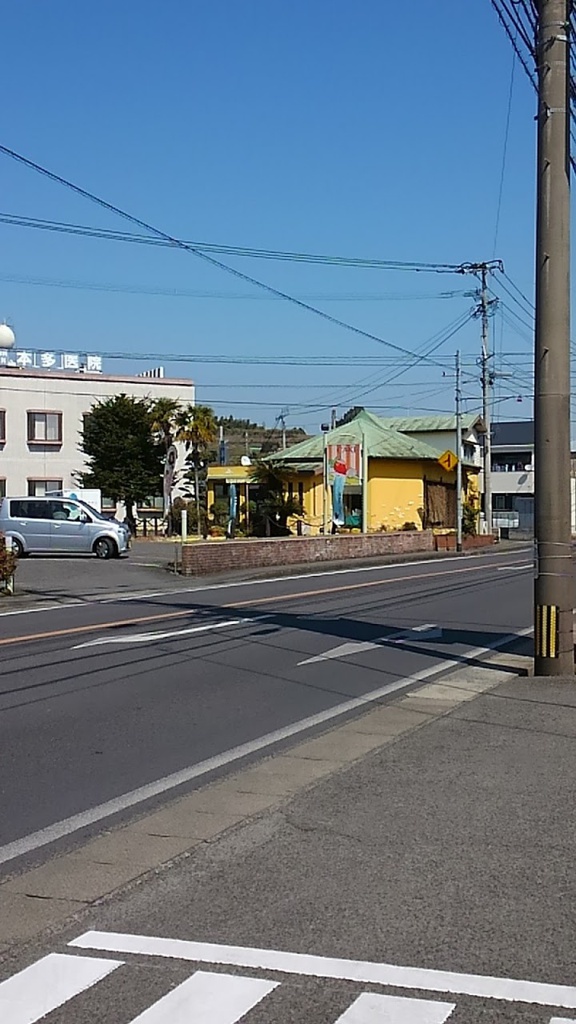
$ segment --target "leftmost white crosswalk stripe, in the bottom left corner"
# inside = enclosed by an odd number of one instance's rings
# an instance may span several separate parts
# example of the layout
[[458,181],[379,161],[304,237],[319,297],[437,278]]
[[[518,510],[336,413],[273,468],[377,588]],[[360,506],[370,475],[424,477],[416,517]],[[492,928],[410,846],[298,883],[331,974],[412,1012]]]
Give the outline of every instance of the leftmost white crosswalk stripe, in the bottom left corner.
[[50,953],[0,983],[0,1021],[35,1024],[118,967],[122,961]]

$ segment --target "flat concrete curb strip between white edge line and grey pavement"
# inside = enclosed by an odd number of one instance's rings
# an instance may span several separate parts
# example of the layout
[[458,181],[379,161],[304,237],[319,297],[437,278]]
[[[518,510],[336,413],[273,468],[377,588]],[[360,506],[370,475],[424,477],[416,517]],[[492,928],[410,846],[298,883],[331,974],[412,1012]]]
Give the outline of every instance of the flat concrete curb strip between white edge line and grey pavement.
[[78,849],[0,885],[0,952],[71,922],[125,887],[194,856],[256,816],[284,809],[296,795],[349,770],[493,689],[510,675],[527,675],[530,659],[499,652],[489,667],[467,669],[427,683],[390,703],[304,739],[221,781],[174,799],[129,824],[105,831]]

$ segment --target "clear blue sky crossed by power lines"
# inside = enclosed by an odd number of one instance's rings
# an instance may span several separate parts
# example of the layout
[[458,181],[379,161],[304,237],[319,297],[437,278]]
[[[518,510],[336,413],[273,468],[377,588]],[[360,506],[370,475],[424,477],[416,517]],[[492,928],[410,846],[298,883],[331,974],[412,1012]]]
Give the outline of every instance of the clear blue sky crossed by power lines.
[[[4,10],[3,38],[3,144],[163,230],[385,260],[495,255],[532,297],[534,95],[518,67],[494,249],[512,54],[489,0],[28,0]],[[130,230],[1,156],[0,188],[2,212]],[[289,408],[289,423],[315,430],[336,401],[389,415],[450,410],[443,372],[457,346],[470,371],[479,353],[472,321],[438,364],[369,394],[400,365],[168,362],[395,353],[182,251],[0,231],[0,319],[20,347],[132,354],[107,358],[109,372],[164,362],[220,414],[273,423]],[[438,297],[472,291],[472,278],[227,259],[410,351],[474,304]],[[526,418],[529,331],[511,322],[501,310],[493,321],[497,353],[516,353],[498,366],[517,374],[498,383],[495,413]],[[469,408],[478,391],[470,379]]]

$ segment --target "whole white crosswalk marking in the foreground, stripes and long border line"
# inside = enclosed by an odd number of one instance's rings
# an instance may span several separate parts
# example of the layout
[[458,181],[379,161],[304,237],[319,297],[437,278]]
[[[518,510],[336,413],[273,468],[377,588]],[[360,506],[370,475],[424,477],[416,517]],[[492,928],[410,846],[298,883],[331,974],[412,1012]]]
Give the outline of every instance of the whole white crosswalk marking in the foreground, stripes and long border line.
[[[102,959],[95,956],[92,950],[120,952],[128,956],[136,953],[140,957],[153,955],[180,962],[204,962],[220,968],[230,965],[235,969],[268,974],[281,972],[284,976],[324,978],[327,983],[334,979],[355,983],[357,991],[351,995],[349,1006],[337,1020],[327,1017],[326,1024],[445,1024],[456,1010],[456,1002],[443,1001],[438,996],[415,998],[375,991],[359,992],[363,982],[420,990],[427,988],[433,992],[451,994],[460,992],[467,997],[533,1005],[540,1002],[542,1007],[547,1002],[548,1007],[576,1009],[576,990],[562,985],[443,974],[385,964],[330,961],[310,954],[105,932],[87,932],[70,945],[74,947],[74,952],[50,953],[0,982],[0,1024],[37,1024],[68,1005],[70,1018],[67,1016],[66,1020],[75,1024],[76,1020],[84,1020],[84,1017],[77,1016],[75,1000],[92,988],[101,994],[104,1013],[110,999],[106,979],[112,974],[120,979],[124,972],[130,970],[130,965],[129,961]],[[140,961],[138,965],[141,967]],[[166,984],[168,988],[169,983]],[[192,1024],[193,1021],[194,1024],[238,1024],[240,1021],[250,1024],[251,1011],[278,989],[286,998],[286,1004],[282,1005],[289,1005],[292,993],[290,980],[286,977],[282,981],[274,981],[270,977],[223,973],[221,970],[192,970],[190,977],[166,991],[138,1016],[127,1020],[123,1015],[122,1020],[118,1018],[118,1024]],[[271,1013],[272,1008],[271,1002]],[[576,1024],[576,1018],[550,1018],[549,1013],[549,1009],[547,1013],[542,1010],[542,1024],[546,1021],[548,1024]]]

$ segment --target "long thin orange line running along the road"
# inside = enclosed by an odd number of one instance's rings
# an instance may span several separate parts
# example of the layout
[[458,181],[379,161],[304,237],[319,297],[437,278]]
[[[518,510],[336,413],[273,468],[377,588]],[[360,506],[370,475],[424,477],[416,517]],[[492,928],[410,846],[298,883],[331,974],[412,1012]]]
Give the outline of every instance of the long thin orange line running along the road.
[[[443,569],[441,572],[413,572],[410,575],[390,577],[387,580],[369,580],[365,583],[345,584],[341,587],[324,587],[319,590],[304,590],[294,594],[274,594],[272,597],[255,597],[246,601],[229,601],[227,604],[214,605],[215,609],[221,608],[248,608],[255,604],[277,604],[281,601],[299,601],[311,597],[319,597],[323,594],[339,594],[348,590],[364,590],[367,587],[385,587],[392,583],[411,583],[413,580],[440,579],[447,575],[458,575],[463,572],[481,572],[486,565],[470,565],[461,569]],[[488,566],[490,567],[490,566]],[[504,568],[507,566],[504,566]],[[194,614],[194,609],[186,608],[181,611],[156,612],[153,615],[136,615],[132,618],[113,620],[108,623],[91,623],[87,626],[70,626],[64,630],[47,630],[42,633],[30,633],[16,637],[3,637],[0,640],[0,647],[7,647],[16,643],[32,643],[37,640],[53,640],[57,637],[73,636],[78,633],[95,633],[98,630],[114,630],[125,626],[138,626],[140,623],[162,622],[165,620],[182,618],[186,615]]]

